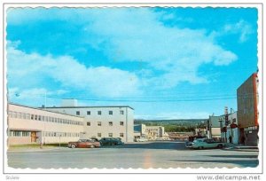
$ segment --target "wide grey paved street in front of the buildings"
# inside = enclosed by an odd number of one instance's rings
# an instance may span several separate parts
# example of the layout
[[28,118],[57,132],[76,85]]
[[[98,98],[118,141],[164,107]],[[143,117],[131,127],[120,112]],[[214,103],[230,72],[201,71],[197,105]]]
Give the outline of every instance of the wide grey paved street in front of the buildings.
[[190,150],[184,142],[145,142],[101,148],[7,153],[12,168],[234,168],[256,167],[258,152]]

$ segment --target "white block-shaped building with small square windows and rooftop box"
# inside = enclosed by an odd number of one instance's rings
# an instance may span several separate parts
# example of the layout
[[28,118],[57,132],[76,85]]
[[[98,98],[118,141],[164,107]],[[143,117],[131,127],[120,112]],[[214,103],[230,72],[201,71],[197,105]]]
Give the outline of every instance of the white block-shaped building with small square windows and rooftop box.
[[81,138],[121,138],[124,142],[134,139],[134,109],[130,106],[77,106],[76,100],[62,102],[62,106],[45,107],[56,113],[84,117]]

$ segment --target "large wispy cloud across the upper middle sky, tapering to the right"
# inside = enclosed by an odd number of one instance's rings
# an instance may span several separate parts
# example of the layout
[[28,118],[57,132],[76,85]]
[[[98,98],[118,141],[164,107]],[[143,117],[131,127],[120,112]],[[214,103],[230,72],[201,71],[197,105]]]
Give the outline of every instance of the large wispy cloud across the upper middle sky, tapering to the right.
[[86,32],[93,37],[90,41],[93,47],[106,52],[114,61],[145,62],[162,71],[163,75],[157,78],[164,88],[183,81],[207,83],[197,75],[202,64],[227,66],[238,59],[204,30],[168,28],[159,21],[160,13],[148,9],[107,10],[91,16]]

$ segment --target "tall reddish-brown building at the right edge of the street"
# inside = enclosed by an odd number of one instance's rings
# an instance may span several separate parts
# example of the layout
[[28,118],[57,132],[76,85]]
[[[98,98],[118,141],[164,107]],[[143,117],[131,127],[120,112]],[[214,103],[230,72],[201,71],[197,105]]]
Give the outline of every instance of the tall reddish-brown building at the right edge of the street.
[[240,143],[247,146],[258,145],[258,77],[257,74],[249,76],[237,91],[238,95],[238,121]]

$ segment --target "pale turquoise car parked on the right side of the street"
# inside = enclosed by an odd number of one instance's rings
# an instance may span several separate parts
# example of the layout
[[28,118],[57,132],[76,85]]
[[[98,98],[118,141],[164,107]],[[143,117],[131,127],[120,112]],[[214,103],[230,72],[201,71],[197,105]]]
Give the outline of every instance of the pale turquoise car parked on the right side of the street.
[[204,149],[204,148],[223,148],[224,143],[216,142],[214,139],[199,138],[195,139],[192,143],[194,149]]

